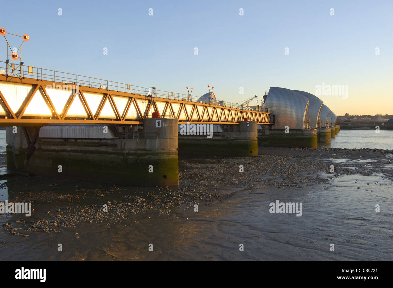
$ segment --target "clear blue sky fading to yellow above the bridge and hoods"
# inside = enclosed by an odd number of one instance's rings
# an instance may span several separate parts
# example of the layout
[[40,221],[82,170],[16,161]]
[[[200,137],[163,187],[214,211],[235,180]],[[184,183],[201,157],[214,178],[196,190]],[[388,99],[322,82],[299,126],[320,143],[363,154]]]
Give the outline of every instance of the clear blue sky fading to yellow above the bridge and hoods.
[[322,82],[343,84],[347,99],[320,97],[337,115],[392,114],[392,11],[393,1],[28,0],[3,2],[0,27],[30,36],[25,65],[180,93],[193,86],[195,96],[210,84],[228,102],[261,99],[271,86],[315,94]]

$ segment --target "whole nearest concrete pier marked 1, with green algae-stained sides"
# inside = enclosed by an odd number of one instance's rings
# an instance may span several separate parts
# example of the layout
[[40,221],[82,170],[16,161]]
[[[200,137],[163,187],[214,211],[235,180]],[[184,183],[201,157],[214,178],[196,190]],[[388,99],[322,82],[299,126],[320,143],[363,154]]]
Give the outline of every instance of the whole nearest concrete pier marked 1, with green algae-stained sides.
[[[28,144],[24,129],[18,127],[13,133],[7,128],[7,168],[111,184],[177,186],[177,124],[177,119],[145,119],[143,126],[132,127],[132,137],[119,133],[123,127],[113,125],[108,127],[109,136],[99,134],[94,139],[49,137],[53,135],[47,126],[41,128],[42,137],[34,144]],[[68,133],[70,126],[64,127]],[[83,127],[73,125],[72,129],[82,131]],[[30,139],[37,135],[34,128],[27,131]]]

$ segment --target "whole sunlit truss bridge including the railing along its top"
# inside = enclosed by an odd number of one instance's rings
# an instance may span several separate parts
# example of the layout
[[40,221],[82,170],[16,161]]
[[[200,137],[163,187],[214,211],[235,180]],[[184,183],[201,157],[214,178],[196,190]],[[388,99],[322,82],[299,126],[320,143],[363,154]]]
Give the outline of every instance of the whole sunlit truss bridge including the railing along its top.
[[154,87],[0,62],[0,126],[143,124],[152,117],[177,118],[179,123],[274,124],[274,114],[267,111],[197,101]]

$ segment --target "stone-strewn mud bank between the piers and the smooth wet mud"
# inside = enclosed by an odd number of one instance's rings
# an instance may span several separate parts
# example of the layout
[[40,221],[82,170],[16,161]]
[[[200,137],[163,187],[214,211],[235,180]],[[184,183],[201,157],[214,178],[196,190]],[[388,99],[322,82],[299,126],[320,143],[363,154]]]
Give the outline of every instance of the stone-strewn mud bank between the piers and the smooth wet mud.
[[[391,181],[392,162],[389,150],[339,148],[260,148],[257,157],[180,157],[176,189],[13,175],[3,181],[0,194],[7,190],[9,202],[31,202],[33,211],[31,217],[0,215],[0,239],[7,236],[0,245],[6,248],[10,236],[38,241],[46,233],[65,233],[78,239],[81,233],[73,232],[80,225],[94,234],[97,229],[132,226],[160,215],[178,218],[174,210],[192,211],[195,204],[214,206],[241,190],[287,189],[290,193],[342,175],[375,173]],[[2,199],[4,196],[0,195]],[[104,205],[108,206],[107,212]]]

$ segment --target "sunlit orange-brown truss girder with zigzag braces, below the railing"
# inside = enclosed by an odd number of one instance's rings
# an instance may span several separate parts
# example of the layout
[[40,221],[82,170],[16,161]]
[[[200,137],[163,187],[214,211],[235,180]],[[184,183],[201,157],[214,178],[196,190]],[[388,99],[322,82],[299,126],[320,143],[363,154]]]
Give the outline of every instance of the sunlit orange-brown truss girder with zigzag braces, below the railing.
[[[16,108],[17,107],[17,108]],[[149,97],[31,78],[0,76],[2,125],[75,123],[143,124],[158,112],[179,123],[274,124],[274,114],[219,105]]]

